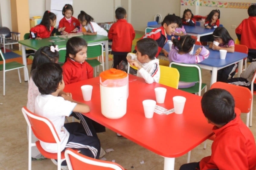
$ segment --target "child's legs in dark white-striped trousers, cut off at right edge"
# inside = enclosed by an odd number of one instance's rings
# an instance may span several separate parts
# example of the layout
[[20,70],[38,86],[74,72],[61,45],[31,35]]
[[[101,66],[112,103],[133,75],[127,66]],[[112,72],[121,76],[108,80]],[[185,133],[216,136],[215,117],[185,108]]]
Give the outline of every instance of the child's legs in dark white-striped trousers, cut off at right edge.
[[[253,79],[253,75],[256,71],[256,62],[250,63],[248,68],[241,73],[240,77],[228,79],[227,83],[233,85],[240,85],[246,88],[251,89],[251,83]],[[253,90],[256,91],[256,84],[253,83]]]

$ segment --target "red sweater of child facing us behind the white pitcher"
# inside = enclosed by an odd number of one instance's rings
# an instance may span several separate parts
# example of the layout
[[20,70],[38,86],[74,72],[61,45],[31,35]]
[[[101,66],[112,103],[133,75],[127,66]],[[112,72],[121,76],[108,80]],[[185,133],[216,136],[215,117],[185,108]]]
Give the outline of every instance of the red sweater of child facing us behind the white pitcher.
[[62,70],[63,80],[66,85],[93,78],[93,68],[86,61],[79,63],[67,58],[67,62],[62,66]]

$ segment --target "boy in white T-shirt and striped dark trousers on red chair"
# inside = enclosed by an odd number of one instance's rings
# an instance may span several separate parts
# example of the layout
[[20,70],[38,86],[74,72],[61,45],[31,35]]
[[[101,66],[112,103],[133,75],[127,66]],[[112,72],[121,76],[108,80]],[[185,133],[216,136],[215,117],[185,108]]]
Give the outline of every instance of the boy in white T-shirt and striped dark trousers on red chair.
[[[79,122],[64,124],[65,117],[70,116],[72,112],[88,113],[90,108],[84,103],[74,101],[72,94],[59,96],[65,87],[61,66],[56,63],[45,63],[35,70],[32,79],[41,93],[35,99],[34,112],[52,122],[60,138],[61,151],[66,148],[78,149],[83,155],[99,159],[100,142],[96,133],[87,136],[86,129]],[[57,144],[42,141],[40,144],[45,151],[57,153]],[[67,165],[66,161],[61,165]]]

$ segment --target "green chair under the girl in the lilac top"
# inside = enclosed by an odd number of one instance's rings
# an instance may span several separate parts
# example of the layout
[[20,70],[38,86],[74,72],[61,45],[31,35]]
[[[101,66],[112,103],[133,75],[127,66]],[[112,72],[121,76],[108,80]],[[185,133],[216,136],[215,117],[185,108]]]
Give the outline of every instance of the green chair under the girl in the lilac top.
[[181,82],[196,82],[194,86],[190,88],[179,88],[180,90],[189,93],[198,93],[198,96],[201,96],[201,91],[204,88],[205,92],[207,91],[207,85],[202,83],[201,68],[198,65],[171,62],[169,66],[177,68],[180,73]]

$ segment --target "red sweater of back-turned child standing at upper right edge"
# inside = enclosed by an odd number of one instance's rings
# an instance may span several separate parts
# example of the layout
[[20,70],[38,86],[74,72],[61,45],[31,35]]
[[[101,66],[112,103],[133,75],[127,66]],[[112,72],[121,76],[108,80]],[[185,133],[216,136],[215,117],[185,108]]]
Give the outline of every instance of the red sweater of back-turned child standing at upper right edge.
[[246,45],[249,49],[256,49],[256,17],[244,19],[236,28],[238,39],[241,38],[240,44]]

